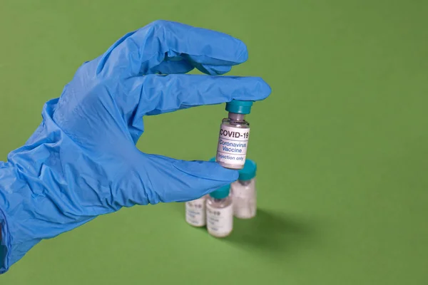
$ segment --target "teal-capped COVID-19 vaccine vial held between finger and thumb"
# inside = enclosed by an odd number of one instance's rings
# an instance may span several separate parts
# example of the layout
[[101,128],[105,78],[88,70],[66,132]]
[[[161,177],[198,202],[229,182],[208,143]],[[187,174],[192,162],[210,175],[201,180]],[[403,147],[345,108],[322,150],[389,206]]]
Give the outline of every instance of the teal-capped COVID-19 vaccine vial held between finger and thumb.
[[250,123],[245,115],[251,111],[253,101],[232,100],[226,103],[228,118],[224,118],[220,125],[217,155],[215,161],[226,168],[240,170],[245,165],[248,138],[250,137]]

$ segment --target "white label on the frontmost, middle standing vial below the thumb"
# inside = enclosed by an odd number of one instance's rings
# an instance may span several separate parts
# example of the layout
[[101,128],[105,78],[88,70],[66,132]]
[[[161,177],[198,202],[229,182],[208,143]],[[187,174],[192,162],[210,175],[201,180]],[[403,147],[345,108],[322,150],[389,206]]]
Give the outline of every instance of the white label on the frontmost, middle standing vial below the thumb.
[[214,208],[207,204],[207,228],[215,237],[225,237],[233,229],[233,205]]

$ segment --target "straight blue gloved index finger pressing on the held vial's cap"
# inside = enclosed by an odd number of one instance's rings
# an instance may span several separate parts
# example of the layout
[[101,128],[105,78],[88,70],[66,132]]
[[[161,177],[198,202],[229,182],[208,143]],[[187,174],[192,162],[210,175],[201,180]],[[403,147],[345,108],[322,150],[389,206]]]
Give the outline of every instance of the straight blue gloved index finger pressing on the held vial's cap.
[[[129,86],[129,87],[128,87]],[[231,100],[263,100],[270,95],[270,86],[259,77],[200,76],[175,74],[130,78],[127,95],[135,100],[118,102],[123,113],[133,118],[126,121],[141,123],[143,115],[158,115],[199,105],[213,105]],[[136,111],[134,111],[136,108]]]

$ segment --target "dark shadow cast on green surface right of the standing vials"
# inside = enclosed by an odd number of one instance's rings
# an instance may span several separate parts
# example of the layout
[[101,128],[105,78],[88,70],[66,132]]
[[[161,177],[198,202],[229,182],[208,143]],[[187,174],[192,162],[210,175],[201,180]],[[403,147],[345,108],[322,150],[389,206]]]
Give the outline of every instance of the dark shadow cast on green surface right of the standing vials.
[[275,257],[299,252],[313,235],[305,222],[285,214],[258,209],[253,219],[234,219],[233,233],[225,239],[249,250],[262,250]]

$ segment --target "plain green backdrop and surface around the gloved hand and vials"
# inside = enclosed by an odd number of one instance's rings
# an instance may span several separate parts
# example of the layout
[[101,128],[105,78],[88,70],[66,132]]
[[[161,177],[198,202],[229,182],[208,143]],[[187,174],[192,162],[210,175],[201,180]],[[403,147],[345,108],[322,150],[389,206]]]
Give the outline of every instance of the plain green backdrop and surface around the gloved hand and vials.
[[[248,116],[257,218],[214,239],[183,204],[122,209],[41,242],[0,284],[428,284],[427,14],[416,0],[0,0],[1,160],[83,61],[156,19],[242,39],[250,58],[230,74],[272,87]],[[224,115],[146,118],[138,147],[208,159]]]

